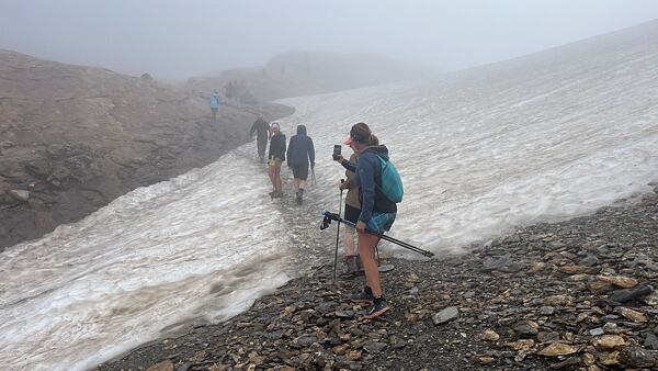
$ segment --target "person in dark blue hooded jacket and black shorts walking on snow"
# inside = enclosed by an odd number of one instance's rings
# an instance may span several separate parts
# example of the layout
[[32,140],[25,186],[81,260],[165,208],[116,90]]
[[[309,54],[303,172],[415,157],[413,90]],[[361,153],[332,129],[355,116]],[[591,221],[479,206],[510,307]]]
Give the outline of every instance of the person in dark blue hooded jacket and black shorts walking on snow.
[[287,149],[287,164],[293,169],[295,201],[297,204],[304,202],[304,189],[308,178],[308,164],[310,169],[315,167],[315,148],[313,139],[306,135],[306,126],[297,125],[297,134],[293,135]]

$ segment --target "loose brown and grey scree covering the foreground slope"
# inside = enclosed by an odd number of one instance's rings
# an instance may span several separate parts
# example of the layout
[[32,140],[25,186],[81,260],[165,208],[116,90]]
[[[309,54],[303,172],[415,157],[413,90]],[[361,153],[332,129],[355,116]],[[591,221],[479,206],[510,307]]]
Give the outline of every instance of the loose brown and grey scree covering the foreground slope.
[[658,369],[658,188],[472,252],[388,258],[375,321],[330,265],[232,319],[164,338],[104,370]]

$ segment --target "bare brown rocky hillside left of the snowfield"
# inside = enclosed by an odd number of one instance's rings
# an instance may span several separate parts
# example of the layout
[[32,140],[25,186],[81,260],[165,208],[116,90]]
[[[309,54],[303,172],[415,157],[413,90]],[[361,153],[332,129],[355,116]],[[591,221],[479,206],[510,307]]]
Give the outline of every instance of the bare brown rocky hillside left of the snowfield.
[[[220,87],[216,87],[220,89]],[[216,160],[281,104],[229,102],[152,80],[0,49],[0,251],[115,198]]]

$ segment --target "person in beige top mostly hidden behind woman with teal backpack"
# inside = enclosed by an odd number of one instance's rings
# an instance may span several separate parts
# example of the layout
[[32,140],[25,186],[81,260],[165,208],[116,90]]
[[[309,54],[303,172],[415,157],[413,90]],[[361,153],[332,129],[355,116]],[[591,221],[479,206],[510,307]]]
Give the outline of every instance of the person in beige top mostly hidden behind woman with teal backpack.
[[[365,124],[364,124],[365,125]],[[367,125],[364,126],[367,128],[370,133],[370,128]],[[354,142],[352,137],[349,136],[344,144],[350,146],[354,151],[352,156],[350,156],[351,164],[358,164],[360,153],[354,148]],[[377,146],[379,145],[379,140],[376,136],[370,135],[368,146]],[[361,214],[361,202],[359,201],[359,187],[356,187],[356,173],[354,171],[345,169],[345,181],[341,182],[339,188],[341,190],[348,190],[348,194],[345,195],[345,206],[344,206],[344,220],[356,224],[359,222],[359,215]],[[345,276],[353,277],[359,273],[361,261],[359,259],[359,249],[354,245],[354,228],[350,225],[345,225],[345,234],[343,239],[343,245],[345,246]]]

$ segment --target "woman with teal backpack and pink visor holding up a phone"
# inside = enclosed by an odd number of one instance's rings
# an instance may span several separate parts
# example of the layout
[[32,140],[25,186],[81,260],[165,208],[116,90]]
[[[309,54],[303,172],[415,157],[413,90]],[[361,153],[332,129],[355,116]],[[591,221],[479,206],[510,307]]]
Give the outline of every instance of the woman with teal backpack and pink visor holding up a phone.
[[374,135],[364,123],[358,123],[350,131],[352,146],[361,154],[356,164],[337,157],[337,160],[349,170],[355,171],[355,184],[359,187],[361,200],[361,213],[356,222],[359,232],[359,256],[365,270],[366,285],[360,293],[350,296],[353,302],[372,303],[372,307],[365,315],[371,319],[388,311],[379,283],[379,272],[375,261],[375,248],[379,237],[365,233],[365,229],[383,234],[390,229],[397,213],[397,205],[389,201],[382,191],[382,162],[388,162],[388,149],[386,146],[370,146],[374,142]]

